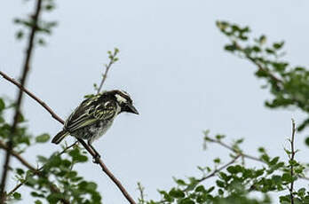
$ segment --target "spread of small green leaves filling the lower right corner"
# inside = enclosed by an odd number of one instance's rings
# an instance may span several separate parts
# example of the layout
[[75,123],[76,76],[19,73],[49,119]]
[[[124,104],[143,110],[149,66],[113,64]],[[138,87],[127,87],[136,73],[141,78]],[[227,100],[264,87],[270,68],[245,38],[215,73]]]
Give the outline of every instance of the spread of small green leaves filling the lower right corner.
[[[258,157],[250,156],[242,152],[240,145],[242,140],[236,140],[231,145],[226,145],[224,137],[217,135],[210,137],[209,131],[205,131],[204,141],[206,143],[217,143],[231,151],[232,161],[220,167],[220,159],[214,160],[214,168],[199,168],[202,177],[188,177],[187,179],[175,178],[176,187],[169,191],[159,191],[162,195],[160,201],[144,201],[140,203],[271,203],[269,192],[282,194],[280,203],[291,203],[289,186],[300,179],[305,179],[305,165],[291,160],[284,162],[279,157],[271,157],[263,147],[258,148]],[[286,151],[291,154],[289,150]],[[255,167],[248,167],[245,160],[257,161]],[[241,161],[241,162],[239,162]],[[290,168],[294,167],[294,174],[291,176]],[[202,184],[213,177],[214,182]],[[252,197],[252,194],[259,193],[262,199]],[[285,193],[285,194],[284,194]],[[309,192],[305,188],[293,190],[294,203],[308,203]]]

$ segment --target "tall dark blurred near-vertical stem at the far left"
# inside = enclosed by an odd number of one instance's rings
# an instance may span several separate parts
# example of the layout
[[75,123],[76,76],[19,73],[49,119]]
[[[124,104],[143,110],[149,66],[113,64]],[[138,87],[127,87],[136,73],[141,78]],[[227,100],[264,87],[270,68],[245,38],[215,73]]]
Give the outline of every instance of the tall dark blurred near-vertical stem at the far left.
[[[36,11],[34,12],[33,15],[33,27],[31,27],[31,32],[28,37],[28,45],[27,45],[27,52],[26,52],[26,58],[24,61],[24,66],[22,70],[22,75],[21,75],[21,80],[20,80],[20,86],[25,87],[27,76],[28,76],[28,71],[30,69],[30,60],[32,58],[32,53],[33,53],[33,48],[34,48],[34,41],[35,41],[35,36],[36,36],[36,31],[37,31],[37,22],[39,20],[39,15],[41,12],[41,5],[42,5],[42,0],[37,0],[36,1]],[[10,159],[11,159],[11,152],[12,152],[12,147],[13,147],[13,135],[15,134],[16,128],[17,128],[17,123],[19,121],[20,117],[20,106],[22,102],[22,95],[23,91],[20,90],[18,94],[18,98],[16,100],[16,108],[15,108],[15,114],[12,122],[12,128],[10,130],[10,137],[8,141],[8,150],[6,151],[5,154],[5,161],[4,161],[4,171],[3,171],[3,176],[1,179],[1,185],[0,185],[0,203],[4,204],[4,191],[5,191],[5,184],[6,184],[6,178],[9,170],[9,164],[10,164]]]

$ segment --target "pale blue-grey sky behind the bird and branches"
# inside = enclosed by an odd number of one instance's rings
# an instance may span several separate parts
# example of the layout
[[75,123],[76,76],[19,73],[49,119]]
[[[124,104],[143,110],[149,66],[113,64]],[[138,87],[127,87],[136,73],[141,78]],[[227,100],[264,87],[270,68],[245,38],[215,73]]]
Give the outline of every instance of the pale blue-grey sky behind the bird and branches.
[[[147,199],[159,199],[157,189],[174,186],[172,177],[198,176],[196,166],[211,165],[216,157],[228,160],[228,152],[218,145],[202,150],[205,129],[224,133],[229,141],[244,137],[247,153],[264,145],[272,155],[286,157],[282,149],[290,120],[299,124],[304,115],[293,108],[265,108],[271,97],[260,89],[265,82],[256,79],[250,62],[223,51],[227,39],[215,22],[249,25],[252,36],[265,34],[270,42],[285,40],[285,59],[308,67],[308,8],[305,0],[57,1],[57,9],[44,18],[58,20],[59,26],[46,38],[47,46],[36,49],[27,86],[66,118],[83,95],[93,92],[92,84],[99,83],[107,51],[119,48],[120,61],[104,89],[128,91],[140,114],[120,115],[95,146],[135,199],[137,182],[146,187]],[[33,1],[0,3],[0,69],[15,78],[25,43],[15,40],[18,27],[12,20],[32,10]],[[2,96],[15,98],[16,91],[0,79]],[[53,136],[62,128],[31,98],[24,98],[23,111],[35,135]],[[297,134],[296,145],[302,149],[297,158],[308,155],[307,132]],[[24,156],[36,164],[38,152],[47,156],[59,148],[36,145]],[[75,169],[99,184],[105,203],[127,203],[91,161]],[[15,183],[11,177],[8,189]]]

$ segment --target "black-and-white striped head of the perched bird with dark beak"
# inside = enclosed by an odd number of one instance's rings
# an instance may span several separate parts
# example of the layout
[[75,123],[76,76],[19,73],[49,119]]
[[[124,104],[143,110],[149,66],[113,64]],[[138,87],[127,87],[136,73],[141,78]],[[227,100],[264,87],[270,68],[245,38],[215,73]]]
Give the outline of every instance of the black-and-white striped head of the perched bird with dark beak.
[[133,101],[127,92],[123,90],[111,90],[111,93],[115,97],[116,103],[121,107],[120,113],[139,114],[138,110],[133,106]]

